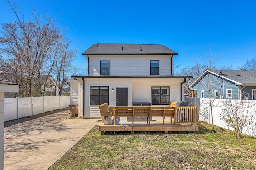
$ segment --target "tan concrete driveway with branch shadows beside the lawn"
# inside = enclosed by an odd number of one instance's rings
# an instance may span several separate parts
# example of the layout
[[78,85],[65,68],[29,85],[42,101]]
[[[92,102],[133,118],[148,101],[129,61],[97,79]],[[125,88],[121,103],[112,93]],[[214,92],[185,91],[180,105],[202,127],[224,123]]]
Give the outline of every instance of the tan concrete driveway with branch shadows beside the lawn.
[[100,122],[67,109],[6,122],[4,170],[46,170]]

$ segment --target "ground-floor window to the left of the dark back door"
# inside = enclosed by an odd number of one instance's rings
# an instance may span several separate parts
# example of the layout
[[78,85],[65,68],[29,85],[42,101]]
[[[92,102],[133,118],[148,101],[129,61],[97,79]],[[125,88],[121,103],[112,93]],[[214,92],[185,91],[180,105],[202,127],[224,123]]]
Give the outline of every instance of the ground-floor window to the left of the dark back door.
[[108,103],[108,87],[90,86],[90,105]]

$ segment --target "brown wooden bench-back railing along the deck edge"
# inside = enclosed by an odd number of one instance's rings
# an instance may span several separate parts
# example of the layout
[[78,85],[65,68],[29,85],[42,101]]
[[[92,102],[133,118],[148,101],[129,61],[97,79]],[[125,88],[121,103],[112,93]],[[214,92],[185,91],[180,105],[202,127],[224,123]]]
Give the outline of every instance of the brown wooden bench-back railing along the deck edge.
[[134,117],[136,116],[147,116],[147,123],[152,121],[152,116],[160,116],[163,118],[163,124],[165,124],[166,117],[170,117],[171,123],[188,123],[196,124],[198,123],[197,107],[196,106],[124,106],[124,107],[109,107],[107,103],[99,106],[100,115],[102,122],[104,123],[104,117],[113,116],[114,125],[116,125],[116,120],[118,117]]

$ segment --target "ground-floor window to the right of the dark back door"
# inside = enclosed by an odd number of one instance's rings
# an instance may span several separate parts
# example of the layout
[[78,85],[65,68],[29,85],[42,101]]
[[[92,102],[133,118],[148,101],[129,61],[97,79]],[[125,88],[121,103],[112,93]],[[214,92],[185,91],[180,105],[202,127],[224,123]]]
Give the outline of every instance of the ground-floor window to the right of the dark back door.
[[152,87],[152,105],[169,104],[170,88],[169,87]]

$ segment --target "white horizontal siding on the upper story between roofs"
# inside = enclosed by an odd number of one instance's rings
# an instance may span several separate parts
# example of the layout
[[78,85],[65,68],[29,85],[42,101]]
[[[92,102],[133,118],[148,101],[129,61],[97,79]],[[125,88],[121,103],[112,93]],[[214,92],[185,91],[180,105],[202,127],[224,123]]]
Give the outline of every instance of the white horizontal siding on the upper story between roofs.
[[99,55],[90,57],[90,76],[100,75],[100,61],[110,61],[110,76],[150,76],[150,60],[159,60],[160,76],[170,76],[170,55]]

